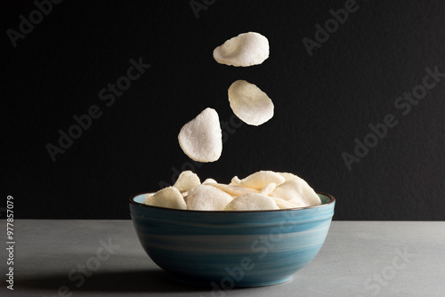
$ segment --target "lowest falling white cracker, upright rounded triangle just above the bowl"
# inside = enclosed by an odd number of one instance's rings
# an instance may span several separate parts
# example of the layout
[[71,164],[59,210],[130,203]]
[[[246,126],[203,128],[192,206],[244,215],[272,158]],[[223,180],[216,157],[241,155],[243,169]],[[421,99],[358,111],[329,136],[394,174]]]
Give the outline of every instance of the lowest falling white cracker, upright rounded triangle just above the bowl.
[[191,159],[203,163],[218,160],[223,152],[223,134],[216,110],[206,108],[184,124],[178,140],[182,151]]

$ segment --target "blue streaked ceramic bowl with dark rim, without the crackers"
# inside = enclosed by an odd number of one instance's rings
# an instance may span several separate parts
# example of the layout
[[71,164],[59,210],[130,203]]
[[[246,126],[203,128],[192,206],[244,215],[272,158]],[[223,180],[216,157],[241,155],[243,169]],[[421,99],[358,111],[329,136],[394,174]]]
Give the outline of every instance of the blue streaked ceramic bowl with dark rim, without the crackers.
[[143,205],[130,197],[141,245],[182,282],[214,288],[286,282],[319,253],[336,199],[287,210],[203,212]]

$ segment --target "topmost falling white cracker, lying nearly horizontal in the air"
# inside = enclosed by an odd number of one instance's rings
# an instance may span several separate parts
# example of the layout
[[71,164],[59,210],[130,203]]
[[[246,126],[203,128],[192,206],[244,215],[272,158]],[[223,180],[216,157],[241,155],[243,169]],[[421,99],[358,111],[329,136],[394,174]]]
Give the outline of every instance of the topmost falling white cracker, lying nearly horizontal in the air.
[[253,66],[269,58],[269,41],[256,32],[239,34],[214,49],[214,60],[230,66]]

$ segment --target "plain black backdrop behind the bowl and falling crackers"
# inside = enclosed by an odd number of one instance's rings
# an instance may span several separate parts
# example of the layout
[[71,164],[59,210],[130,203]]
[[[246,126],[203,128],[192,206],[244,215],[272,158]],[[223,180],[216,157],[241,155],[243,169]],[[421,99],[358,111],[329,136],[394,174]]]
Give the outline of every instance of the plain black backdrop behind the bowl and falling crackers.
[[[190,169],[182,125],[207,107],[228,121],[227,89],[245,79],[275,115],[229,133],[217,162],[191,165],[202,180],[291,172],[336,197],[336,220],[445,219],[445,79],[408,115],[394,107],[425,68],[445,72],[442,1],[358,1],[312,56],[303,38],[345,1],[211,3],[197,18],[189,1],[63,1],[15,48],[6,30],[36,4],[1,4],[2,192],[16,218],[128,219],[128,197]],[[268,60],[214,61],[215,46],[247,31],[268,37]],[[140,57],[151,67],[107,107],[98,93]],[[101,117],[53,162],[45,145],[93,105]],[[342,153],[390,113],[399,124],[349,171]]]

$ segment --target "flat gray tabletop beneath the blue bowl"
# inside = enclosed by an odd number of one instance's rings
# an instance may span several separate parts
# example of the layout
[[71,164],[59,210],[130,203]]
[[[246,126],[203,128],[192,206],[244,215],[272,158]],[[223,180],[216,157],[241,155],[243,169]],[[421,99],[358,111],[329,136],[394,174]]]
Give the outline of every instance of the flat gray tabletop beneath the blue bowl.
[[445,296],[443,221],[333,221],[289,282],[228,291],[176,282],[144,253],[132,221],[18,220],[14,235],[14,290],[2,248],[1,296]]

